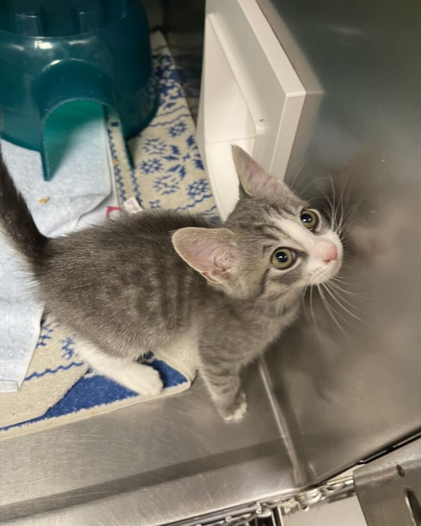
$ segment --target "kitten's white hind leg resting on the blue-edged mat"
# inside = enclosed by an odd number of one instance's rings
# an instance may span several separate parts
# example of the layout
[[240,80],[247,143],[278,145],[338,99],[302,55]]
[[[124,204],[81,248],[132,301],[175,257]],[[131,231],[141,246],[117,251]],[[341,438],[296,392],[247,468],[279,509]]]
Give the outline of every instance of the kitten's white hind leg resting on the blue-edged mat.
[[81,342],[78,353],[100,375],[121,383],[139,395],[156,396],[162,390],[159,373],[152,367],[129,359],[111,356],[92,343]]

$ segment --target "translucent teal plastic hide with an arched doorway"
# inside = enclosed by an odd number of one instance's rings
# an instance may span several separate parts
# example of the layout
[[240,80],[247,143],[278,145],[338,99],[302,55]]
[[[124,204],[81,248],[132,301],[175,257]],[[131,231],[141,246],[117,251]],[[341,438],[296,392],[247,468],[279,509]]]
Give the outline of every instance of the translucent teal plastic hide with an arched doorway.
[[48,127],[57,129],[61,112],[71,111],[64,104],[85,100],[109,108],[129,139],[149,124],[159,103],[138,0],[2,2],[0,78],[3,137],[38,150],[46,180],[55,164]]

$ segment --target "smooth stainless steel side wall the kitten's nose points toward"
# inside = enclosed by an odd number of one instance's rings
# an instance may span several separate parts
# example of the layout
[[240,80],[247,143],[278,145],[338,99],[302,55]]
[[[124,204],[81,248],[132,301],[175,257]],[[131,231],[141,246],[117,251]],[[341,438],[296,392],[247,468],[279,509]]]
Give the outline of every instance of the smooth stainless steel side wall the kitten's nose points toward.
[[315,291],[317,327],[307,306],[267,355],[278,417],[314,483],[421,426],[421,4],[258,3],[303,82],[299,55],[324,90],[308,151],[287,179],[332,199],[332,178],[355,220],[338,283],[350,294],[335,293],[340,307],[324,292],[343,330]]

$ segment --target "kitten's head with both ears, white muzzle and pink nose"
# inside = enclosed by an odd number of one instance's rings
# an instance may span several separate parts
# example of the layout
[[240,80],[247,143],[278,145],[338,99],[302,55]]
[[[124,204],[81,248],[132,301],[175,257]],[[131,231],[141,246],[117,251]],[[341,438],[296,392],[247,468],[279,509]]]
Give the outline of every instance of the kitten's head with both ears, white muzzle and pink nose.
[[317,210],[233,147],[239,200],[224,228],[182,228],[178,254],[237,298],[277,300],[335,276],[342,244]]

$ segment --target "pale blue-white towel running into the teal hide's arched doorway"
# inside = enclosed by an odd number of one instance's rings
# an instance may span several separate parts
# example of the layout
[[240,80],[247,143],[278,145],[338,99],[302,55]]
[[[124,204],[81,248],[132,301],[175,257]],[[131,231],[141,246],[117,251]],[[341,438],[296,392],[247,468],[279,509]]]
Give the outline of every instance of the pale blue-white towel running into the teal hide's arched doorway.
[[[2,141],[6,165],[39,230],[58,236],[111,192],[108,140],[103,109],[74,102],[54,115],[49,151],[55,172],[44,181],[41,156]],[[69,112],[68,110],[71,109]],[[22,258],[0,237],[0,391],[21,386],[39,337],[43,305],[34,298]]]

